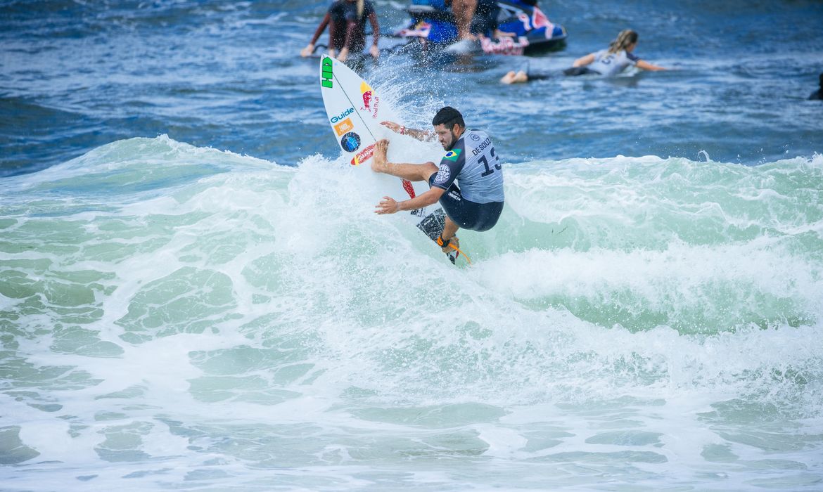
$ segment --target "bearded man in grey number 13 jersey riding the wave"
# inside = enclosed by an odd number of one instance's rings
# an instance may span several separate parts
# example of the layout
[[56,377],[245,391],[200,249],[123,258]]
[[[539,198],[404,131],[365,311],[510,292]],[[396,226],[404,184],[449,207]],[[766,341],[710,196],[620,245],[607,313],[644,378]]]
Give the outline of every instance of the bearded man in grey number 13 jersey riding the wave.
[[[394,132],[407,133],[418,140],[432,135],[424,130],[407,130],[398,123],[384,121],[385,127]],[[392,197],[374,207],[375,213],[393,214],[412,211],[440,202],[446,212],[446,224],[437,238],[437,244],[449,253],[450,245],[459,248],[458,229],[486,231],[497,224],[503,211],[503,169],[500,157],[495,153],[491,137],[481,130],[466,128],[463,115],[457,109],[446,106],[431,121],[440,145],[446,154],[440,164],[398,164],[388,162],[388,140],[374,146],[371,169],[391,174],[409,181],[427,181],[429,191],[412,199],[397,202]],[[459,188],[458,188],[459,185]]]

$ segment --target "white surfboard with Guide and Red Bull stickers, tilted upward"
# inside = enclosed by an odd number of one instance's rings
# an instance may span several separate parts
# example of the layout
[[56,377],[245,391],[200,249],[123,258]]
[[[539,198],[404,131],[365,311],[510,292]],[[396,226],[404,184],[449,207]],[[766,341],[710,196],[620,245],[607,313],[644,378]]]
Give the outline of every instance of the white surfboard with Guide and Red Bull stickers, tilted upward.
[[[346,162],[355,166],[360,173],[376,175],[383,193],[381,197],[388,195],[400,202],[429,189],[427,183],[411,183],[371,170],[374,144],[381,138],[388,138],[392,142],[398,137],[397,133],[385,128],[380,122],[388,120],[399,123],[401,118],[398,118],[398,114],[386,101],[380,100],[380,96],[368,82],[344,63],[323,55],[320,59],[320,89],[328,123]],[[398,213],[433,241],[443,232],[446,214],[439,204]],[[458,255],[457,251],[453,251],[446,256],[454,263]]]

